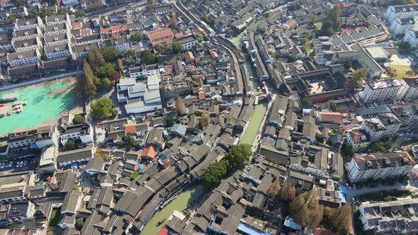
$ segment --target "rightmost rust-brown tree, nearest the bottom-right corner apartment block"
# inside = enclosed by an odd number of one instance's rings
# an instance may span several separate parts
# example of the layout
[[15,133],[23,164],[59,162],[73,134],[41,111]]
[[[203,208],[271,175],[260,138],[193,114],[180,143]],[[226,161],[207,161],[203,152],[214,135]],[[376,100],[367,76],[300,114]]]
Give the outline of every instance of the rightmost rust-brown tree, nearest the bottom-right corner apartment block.
[[337,209],[332,209],[327,212],[327,219],[333,231],[338,231],[339,234],[347,234],[349,224],[351,221],[351,207],[343,205]]

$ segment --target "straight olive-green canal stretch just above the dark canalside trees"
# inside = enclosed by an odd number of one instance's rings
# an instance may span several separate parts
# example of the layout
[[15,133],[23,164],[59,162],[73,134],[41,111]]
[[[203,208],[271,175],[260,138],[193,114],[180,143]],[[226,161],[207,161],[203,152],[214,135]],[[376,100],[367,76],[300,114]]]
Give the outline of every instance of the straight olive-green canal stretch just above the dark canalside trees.
[[254,142],[266,110],[267,103],[260,103],[256,105],[251,120],[249,120],[249,125],[239,141],[240,144],[252,144],[252,142]]

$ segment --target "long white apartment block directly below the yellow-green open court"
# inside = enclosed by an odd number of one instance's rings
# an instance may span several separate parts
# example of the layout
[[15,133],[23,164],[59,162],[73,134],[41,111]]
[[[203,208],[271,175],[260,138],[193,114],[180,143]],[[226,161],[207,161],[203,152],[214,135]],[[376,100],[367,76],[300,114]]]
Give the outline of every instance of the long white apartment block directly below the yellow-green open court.
[[397,79],[367,83],[361,93],[364,103],[374,101],[388,101],[397,98],[397,92],[402,84]]

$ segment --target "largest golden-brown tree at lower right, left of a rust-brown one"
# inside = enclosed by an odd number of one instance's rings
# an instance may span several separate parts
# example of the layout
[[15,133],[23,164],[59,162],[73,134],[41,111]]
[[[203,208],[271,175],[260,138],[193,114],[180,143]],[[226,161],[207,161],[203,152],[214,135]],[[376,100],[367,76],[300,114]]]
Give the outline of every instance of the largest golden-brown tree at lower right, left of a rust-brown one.
[[310,190],[290,202],[289,212],[298,224],[315,229],[322,220],[324,208],[318,203],[316,191]]

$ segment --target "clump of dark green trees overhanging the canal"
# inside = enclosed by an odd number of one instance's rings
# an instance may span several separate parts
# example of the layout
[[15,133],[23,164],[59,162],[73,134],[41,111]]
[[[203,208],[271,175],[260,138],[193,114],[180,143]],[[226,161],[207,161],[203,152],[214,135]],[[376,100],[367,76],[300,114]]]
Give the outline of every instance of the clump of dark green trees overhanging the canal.
[[221,161],[217,161],[208,166],[203,175],[206,185],[213,187],[218,185],[228,172],[235,171],[244,166],[245,162],[252,156],[249,144],[238,144],[232,147]]

